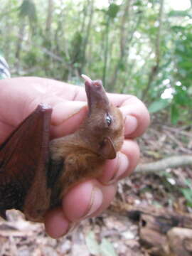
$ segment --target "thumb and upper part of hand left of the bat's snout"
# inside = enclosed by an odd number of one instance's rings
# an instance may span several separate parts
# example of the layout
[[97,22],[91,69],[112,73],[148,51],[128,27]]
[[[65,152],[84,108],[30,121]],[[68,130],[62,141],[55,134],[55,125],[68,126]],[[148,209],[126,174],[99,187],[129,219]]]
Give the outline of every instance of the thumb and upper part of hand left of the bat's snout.
[[75,85],[44,78],[11,78],[0,80],[0,90],[0,143],[40,103],[53,107],[52,137],[75,132],[87,114],[86,101],[73,101],[78,90],[83,90]]

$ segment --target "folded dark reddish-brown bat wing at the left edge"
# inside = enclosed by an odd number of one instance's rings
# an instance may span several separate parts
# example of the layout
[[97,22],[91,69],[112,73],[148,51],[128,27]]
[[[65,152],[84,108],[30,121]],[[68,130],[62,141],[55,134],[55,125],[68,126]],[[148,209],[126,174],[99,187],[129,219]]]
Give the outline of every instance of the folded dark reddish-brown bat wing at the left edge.
[[0,215],[4,218],[7,209],[15,208],[35,219],[47,207],[51,112],[50,107],[38,105],[0,146]]

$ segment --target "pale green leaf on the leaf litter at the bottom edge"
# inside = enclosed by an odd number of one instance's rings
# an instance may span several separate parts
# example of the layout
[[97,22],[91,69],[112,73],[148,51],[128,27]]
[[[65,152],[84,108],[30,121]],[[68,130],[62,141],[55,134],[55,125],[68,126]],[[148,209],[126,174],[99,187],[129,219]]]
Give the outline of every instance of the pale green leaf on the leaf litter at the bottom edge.
[[102,242],[99,244],[95,238],[95,234],[92,231],[85,237],[85,242],[92,255],[117,256],[112,243],[103,238]]

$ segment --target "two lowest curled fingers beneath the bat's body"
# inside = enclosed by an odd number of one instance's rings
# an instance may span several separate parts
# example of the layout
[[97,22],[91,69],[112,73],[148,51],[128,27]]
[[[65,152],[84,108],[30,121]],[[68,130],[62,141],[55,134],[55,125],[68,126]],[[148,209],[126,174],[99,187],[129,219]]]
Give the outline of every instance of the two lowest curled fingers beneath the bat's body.
[[116,185],[104,186],[95,179],[78,184],[63,198],[63,207],[51,210],[45,217],[46,232],[59,238],[75,223],[107,208],[116,193]]

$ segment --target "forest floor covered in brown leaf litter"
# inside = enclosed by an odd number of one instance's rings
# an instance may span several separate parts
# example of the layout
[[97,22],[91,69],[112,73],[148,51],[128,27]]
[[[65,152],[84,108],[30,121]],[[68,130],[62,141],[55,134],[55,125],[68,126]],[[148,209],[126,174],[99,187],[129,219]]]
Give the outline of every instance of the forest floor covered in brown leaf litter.
[[[192,154],[191,127],[171,127],[152,120],[139,139],[141,162],[154,162],[168,156]],[[139,225],[127,216],[134,207],[165,208],[192,213],[181,188],[192,179],[190,166],[158,173],[134,173],[118,185],[112,206],[100,217],[85,220],[76,230],[60,239],[46,235],[44,227],[27,222],[21,213],[9,211],[9,221],[0,220],[0,255],[3,256],[142,256],[149,251],[139,242]],[[192,200],[192,199],[191,199]]]

